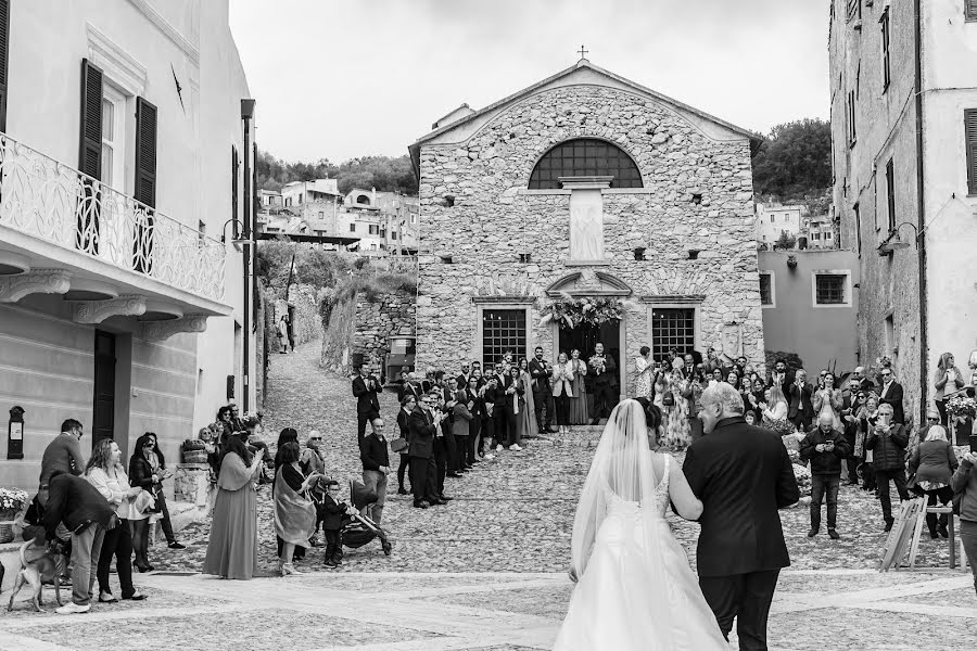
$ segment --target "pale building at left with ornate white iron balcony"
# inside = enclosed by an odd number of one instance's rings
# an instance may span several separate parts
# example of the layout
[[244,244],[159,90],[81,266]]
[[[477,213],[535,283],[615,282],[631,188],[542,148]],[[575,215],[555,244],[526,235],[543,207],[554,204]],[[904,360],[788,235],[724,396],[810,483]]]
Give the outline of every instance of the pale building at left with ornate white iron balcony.
[[229,393],[254,405],[230,242],[252,104],[228,0],[3,0],[0,16],[0,404],[25,410],[0,477],[36,489],[67,418],[86,455],[111,437],[128,458],[152,431],[176,462]]

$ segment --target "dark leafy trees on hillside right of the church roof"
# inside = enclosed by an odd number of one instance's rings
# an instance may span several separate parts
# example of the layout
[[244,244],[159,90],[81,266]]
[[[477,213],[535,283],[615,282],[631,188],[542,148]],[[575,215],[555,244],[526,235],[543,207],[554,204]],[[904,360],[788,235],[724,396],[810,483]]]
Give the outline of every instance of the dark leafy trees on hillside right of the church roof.
[[783,200],[821,195],[832,186],[832,126],[801,119],[775,126],[753,157],[753,191]]

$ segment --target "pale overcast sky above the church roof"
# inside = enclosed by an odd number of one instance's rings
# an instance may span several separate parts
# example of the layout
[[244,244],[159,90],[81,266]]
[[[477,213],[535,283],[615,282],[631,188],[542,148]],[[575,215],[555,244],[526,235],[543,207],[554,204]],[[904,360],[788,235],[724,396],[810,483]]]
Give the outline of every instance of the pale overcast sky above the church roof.
[[231,0],[257,142],[399,156],[580,58],[760,132],[828,116],[829,0]]

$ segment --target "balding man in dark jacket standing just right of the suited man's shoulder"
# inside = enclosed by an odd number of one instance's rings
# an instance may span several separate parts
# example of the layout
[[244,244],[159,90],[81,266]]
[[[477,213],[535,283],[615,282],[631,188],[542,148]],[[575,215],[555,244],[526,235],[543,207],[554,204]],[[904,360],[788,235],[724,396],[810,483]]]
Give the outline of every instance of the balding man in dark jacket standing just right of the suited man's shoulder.
[[813,538],[821,529],[821,503],[827,495],[828,536],[837,540],[838,489],[841,487],[841,462],[851,452],[845,434],[834,429],[834,419],[822,413],[817,427],[801,441],[801,459],[811,462],[811,531]]

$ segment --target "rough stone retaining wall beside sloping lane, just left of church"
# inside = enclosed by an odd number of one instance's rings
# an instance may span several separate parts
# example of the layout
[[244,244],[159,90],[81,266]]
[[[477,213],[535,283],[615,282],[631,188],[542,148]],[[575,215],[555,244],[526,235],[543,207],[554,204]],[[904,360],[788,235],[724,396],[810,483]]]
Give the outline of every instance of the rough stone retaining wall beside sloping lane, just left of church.
[[414,295],[407,292],[377,294],[373,299],[356,294],[337,304],[322,342],[322,366],[345,373],[355,355],[381,363],[390,353],[390,337],[404,328],[414,330],[416,312]]

